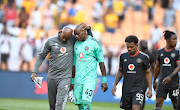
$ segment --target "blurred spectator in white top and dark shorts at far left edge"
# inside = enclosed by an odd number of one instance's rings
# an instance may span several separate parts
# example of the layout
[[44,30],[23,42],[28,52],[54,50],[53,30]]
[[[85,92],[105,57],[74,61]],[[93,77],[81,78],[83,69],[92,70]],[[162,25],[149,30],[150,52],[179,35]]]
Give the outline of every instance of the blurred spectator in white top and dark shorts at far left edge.
[[[0,37],[0,52],[1,52],[1,64],[0,69],[9,70],[8,67],[8,59],[10,53],[10,34],[8,33],[7,27],[4,27],[3,34]],[[3,64],[5,64],[5,68],[3,68]]]

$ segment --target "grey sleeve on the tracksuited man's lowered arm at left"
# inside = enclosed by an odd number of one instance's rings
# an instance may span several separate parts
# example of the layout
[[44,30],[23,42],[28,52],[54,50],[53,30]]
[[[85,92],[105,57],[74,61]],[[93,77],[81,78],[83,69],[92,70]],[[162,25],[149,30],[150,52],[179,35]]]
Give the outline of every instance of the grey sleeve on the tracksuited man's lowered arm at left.
[[44,61],[44,59],[46,58],[47,54],[50,52],[50,46],[49,46],[49,40],[46,41],[46,43],[44,44],[44,46],[41,49],[41,52],[38,55],[38,58],[36,60],[33,72],[37,73],[39,67],[41,66],[42,62]]

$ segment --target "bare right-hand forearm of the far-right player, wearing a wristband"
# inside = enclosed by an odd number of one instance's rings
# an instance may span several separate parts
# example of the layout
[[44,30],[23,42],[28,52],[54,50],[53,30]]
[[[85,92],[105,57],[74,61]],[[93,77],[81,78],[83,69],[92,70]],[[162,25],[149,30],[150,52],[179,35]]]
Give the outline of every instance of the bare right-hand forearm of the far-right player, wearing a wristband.
[[180,71],[180,62],[177,61],[176,65],[177,67],[174,69],[174,71],[169,76],[164,78],[164,80],[162,81],[163,84],[168,84],[171,81],[172,77],[178,74],[178,72]]

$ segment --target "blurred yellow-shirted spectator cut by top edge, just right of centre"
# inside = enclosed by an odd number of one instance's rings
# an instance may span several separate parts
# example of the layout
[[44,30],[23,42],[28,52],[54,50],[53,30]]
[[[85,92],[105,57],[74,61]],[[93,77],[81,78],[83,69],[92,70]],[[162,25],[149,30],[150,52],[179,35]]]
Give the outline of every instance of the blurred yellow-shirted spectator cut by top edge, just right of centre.
[[121,23],[124,20],[124,10],[125,10],[126,4],[122,0],[114,0],[112,2],[112,5],[113,5],[113,11],[119,17],[118,28],[120,28]]

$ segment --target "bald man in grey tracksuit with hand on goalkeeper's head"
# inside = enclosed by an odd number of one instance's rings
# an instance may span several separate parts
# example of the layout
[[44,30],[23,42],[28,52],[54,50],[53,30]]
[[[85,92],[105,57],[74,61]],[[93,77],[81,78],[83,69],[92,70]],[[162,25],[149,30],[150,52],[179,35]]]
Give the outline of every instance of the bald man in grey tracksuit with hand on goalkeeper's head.
[[[90,27],[84,23],[81,25],[92,36]],[[50,110],[64,110],[67,103],[73,68],[73,46],[76,41],[72,33],[73,30],[71,28],[64,27],[57,35],[50,37],[46,41],[38,55],[31,75],[31,80],[33,81],[37,77],[40,65],[50,52],[47,75]]]

